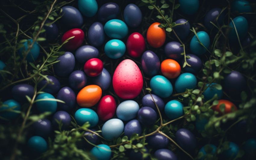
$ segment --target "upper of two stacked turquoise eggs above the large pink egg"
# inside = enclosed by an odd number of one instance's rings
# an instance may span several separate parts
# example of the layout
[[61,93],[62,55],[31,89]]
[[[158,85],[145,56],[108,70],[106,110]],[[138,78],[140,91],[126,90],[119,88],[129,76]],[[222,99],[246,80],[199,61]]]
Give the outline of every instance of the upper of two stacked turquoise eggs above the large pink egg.
[[119,19],[111,19],[104,25],[104,31],[110,38],[122,39],[128,34],[128,27]]

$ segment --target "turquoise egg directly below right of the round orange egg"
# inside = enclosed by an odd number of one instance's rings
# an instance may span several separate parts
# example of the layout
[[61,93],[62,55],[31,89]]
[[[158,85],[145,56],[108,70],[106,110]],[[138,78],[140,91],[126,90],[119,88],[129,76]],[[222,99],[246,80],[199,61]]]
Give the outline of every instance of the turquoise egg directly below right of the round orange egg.
[[182,73],[175,81],[174,87],[177,93],[183,93],[187,89],[195,88],[196,77],[192,73]]

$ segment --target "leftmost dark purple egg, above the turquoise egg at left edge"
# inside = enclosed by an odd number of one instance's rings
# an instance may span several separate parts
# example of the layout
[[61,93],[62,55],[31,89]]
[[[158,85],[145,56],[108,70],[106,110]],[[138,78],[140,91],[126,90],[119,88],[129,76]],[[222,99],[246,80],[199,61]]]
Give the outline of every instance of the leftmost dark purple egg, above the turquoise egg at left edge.
[[17,84],[11,89],[11,94],[18,102],[27,102],[26,95],[31,99],[34,95],[34,87],[30,84]]

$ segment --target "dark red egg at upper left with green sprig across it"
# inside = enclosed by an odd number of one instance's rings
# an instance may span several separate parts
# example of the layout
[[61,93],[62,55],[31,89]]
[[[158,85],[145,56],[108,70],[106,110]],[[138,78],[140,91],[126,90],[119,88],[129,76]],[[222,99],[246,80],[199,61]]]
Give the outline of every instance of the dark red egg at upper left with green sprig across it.
[[67,40],[70,37],[73,37],[70,40],[68,40],[67,43],[65,43],[63,46],[67,50],[74,50],[77,49],[81,44],[83,43],[84,40],[84,32],[79,29],[79,28],[73,28],[67,31],[66,33],[63,34],[61,38],[61,43],[63,43],[65,40]]

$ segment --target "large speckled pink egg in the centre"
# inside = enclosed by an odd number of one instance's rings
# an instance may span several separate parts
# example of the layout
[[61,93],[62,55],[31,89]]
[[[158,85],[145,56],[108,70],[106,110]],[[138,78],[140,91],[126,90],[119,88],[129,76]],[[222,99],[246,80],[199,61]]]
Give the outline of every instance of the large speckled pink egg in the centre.
[[113,75],[113,87],[122,99],[133,99],[139,95],[143,86],[142,74],[135,62],[130,59],[118,64]]

